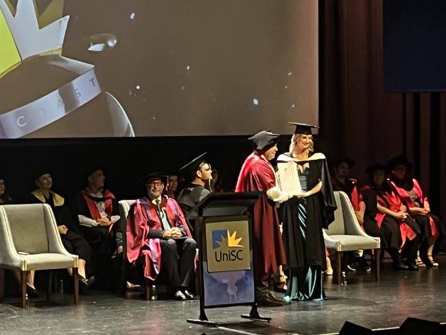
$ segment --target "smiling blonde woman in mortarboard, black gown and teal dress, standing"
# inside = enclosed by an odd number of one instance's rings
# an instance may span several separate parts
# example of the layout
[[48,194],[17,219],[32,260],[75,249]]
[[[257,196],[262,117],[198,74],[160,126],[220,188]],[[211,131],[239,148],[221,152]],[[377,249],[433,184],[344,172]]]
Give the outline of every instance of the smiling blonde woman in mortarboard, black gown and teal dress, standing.
[[287,300],[325,299],[322,270],[325,269],[325,242],[322,229],[334,220],[336,201],[324,154],[313,151],[311,128],[295,124],[290,152],[278,163],[296,163],[302,194],[283,203],[283,244],[290,268]]

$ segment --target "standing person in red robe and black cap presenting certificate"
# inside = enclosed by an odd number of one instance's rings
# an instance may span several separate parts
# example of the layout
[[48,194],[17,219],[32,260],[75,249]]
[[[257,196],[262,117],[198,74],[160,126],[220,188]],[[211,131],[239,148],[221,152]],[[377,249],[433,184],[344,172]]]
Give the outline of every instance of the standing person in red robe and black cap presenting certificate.
[[268,290],[268,279],[279,272],[280,265],[286,264],[276,203],[283,203],[292,194],[281,192],[276,186],[274,169],[269,163],[276,155],[279,135],[263,130],[248,140],[254,152],[244,161],[235,192],[265,192],[252,211],[257,303],[283,305]]

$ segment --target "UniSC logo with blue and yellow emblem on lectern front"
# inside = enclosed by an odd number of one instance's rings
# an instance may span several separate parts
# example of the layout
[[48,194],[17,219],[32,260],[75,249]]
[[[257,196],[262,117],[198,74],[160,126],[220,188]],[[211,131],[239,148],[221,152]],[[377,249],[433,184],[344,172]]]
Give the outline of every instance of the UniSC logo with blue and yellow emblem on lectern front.
[[215,262],[242,261],[244,246],[240,244],[242,238],[237,238],[237,231],[232,234],[228,230],[212,231],[212,247]]

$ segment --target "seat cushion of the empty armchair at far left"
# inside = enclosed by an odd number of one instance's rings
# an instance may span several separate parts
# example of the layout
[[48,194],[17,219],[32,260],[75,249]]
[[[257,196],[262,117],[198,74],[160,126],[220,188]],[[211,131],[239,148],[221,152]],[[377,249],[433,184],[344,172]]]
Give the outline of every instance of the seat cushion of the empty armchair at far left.
[[21,270],[51,270],[55,268],[72,268],[76,262],[73,257],[58,253],[38,253],[36,255],[19,255],[23,259]]

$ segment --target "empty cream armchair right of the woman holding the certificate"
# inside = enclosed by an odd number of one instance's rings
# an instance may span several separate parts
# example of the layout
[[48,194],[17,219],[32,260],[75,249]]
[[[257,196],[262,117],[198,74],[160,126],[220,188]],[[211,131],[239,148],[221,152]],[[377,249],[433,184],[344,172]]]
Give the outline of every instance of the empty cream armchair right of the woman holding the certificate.
[[342,253],[344,251],[373,249],[375,280],[379,280],[380,240],[367,235],[361,228],[349,197],[344,192],[334,192],[336,205],[335,220],[324,229],[325,246],[336,252],[336,274],[334,282],[340,283]]

